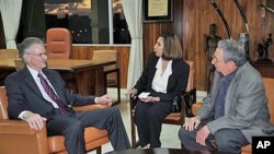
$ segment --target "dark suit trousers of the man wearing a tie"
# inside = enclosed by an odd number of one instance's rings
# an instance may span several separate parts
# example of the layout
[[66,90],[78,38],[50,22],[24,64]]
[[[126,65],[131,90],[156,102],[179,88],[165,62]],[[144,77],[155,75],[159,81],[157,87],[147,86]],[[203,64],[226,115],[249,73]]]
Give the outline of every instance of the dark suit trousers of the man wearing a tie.
[[130,143],[117,107],[48,116],[48,135],[64,135],[69,154],[85,154],[84,128],[106,129],[114,150],[130,149]]

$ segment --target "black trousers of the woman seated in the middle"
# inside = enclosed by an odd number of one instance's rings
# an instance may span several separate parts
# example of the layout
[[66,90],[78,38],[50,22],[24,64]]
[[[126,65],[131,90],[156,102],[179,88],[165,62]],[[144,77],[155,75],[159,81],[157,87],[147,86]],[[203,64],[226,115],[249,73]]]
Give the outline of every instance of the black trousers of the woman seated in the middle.
[[150,147],[160,147],[160,133],[162,120],[170,112],[171,103],[142,103],[136,104],[135,121],[138,130],[140,145],[150,144]]

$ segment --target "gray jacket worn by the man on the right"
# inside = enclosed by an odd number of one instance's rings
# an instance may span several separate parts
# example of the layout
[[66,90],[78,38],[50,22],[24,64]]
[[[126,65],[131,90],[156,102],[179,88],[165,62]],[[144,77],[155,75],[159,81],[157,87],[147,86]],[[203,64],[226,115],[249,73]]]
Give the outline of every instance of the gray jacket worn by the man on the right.
[[[219,85],[220,73],[216,71],[213,88],[197,112],[202,120],[213,116]],[[250,143],[254,135],[274,135],[262,76],[249,62],[238,69],[228,87],[225,116],[208,122],[207,126],[212,133],[221,129],[238,129]]]

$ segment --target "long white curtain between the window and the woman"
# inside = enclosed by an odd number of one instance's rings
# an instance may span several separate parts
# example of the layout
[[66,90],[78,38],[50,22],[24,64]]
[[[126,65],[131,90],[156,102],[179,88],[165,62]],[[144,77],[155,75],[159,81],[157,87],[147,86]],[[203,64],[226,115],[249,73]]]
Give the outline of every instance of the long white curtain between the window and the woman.
[[132,36],[127,90],[130,90],[142,72],[142,0],[122,0],[124,14]]

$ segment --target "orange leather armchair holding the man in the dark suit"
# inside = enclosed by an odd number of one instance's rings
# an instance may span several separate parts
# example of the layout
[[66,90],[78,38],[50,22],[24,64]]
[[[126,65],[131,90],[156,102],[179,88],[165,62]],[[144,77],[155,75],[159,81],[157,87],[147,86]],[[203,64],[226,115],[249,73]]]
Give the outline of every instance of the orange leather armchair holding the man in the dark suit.
[[[0,87],[0,153],[1,154],[67,154],[62,135],[47,137],[46,128],[41,131],[32,130],[23,120],[10,120],[7,115],[8,98],[4,86]],[[75,110],[102,108],[102,105],[77,107]],[[84,140],[87,151],[96,150],[109,141],[107,132],[94,127],[85,128]]]

